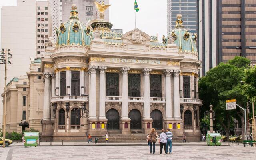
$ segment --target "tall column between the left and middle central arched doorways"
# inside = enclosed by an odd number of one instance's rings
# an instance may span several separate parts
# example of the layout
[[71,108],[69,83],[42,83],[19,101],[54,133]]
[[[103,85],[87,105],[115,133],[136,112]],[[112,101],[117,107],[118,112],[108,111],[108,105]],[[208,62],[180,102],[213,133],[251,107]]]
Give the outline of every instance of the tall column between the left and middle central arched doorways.
[[128,67],[122,67],[122,120],[129,119],[128,117]]

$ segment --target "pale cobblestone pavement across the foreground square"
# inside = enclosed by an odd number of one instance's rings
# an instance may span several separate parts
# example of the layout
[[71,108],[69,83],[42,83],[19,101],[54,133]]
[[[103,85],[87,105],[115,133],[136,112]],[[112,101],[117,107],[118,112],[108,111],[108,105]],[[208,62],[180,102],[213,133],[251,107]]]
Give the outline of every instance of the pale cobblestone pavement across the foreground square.
[[[4,151],[3,151],[4,150]],[[254,147],[173,146],[172,154],[149,153],[149,146],[38,146],[0,148],[0,160],[256,160]]]

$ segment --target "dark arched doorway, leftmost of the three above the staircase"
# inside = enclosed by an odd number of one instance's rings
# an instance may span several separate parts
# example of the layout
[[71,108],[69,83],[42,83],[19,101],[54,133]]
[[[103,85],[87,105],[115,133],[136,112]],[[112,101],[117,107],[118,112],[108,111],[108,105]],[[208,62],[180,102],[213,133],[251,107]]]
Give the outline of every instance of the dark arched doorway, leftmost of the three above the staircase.
[[106,113],[106,118],[108,119],[107,129],[114,130],[119,129],[119,113],[115,109],[110,109]]

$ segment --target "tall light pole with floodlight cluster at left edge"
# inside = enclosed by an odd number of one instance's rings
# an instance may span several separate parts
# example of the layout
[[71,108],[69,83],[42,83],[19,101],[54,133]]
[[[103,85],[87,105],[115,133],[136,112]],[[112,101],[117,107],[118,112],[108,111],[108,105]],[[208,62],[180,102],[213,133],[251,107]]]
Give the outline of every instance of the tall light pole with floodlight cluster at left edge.
[[2,48],[1,55],[0,55],[0,64],[4,64],[5,68],[5,77],[4,77],[4,108],[3,108],[3,148],[5,148],[5,128],[6,128],[6,80],[7,80],[7,64],[12,64],[12,52],[10,52],[10,49]]

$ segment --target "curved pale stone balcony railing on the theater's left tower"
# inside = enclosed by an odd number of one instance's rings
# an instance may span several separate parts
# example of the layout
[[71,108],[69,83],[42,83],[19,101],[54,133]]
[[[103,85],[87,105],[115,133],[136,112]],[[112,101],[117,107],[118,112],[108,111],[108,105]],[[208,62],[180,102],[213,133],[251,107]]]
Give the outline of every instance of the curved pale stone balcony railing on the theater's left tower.
[[52,97],[51,99],[51,102],[60,102],[60,101],[88,102],[88,96],[55,96],[55,97]]

